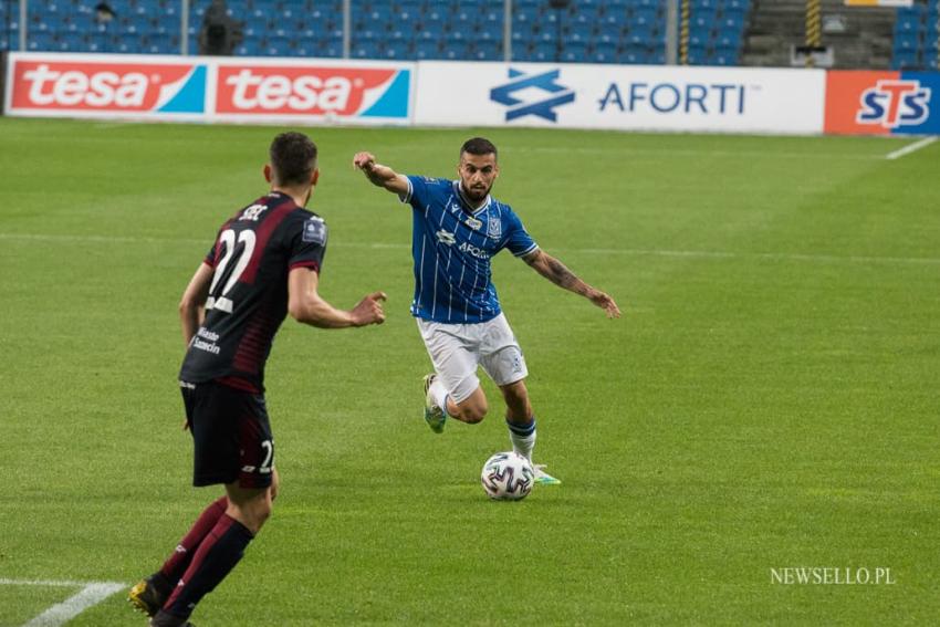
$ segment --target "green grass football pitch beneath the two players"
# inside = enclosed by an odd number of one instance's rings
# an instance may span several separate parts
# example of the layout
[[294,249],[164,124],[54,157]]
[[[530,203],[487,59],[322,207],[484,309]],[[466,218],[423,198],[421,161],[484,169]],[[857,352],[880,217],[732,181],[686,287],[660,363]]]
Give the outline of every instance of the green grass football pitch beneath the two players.
[[[265,190],[274,127],[0,119],[0,581],[159,566],[217,489],[189,485],[177,303],[218,226]],[[284,323],[268,398],[282,494],[206,626],[928,624],[940,615],[940,144],[526,129],[309,128],[324,296],[384,326]],[[488,419],[421,420],[410,217],[352,168],[495,194],[624,316],[503,254],[537,461],[490,502]],[[774,579],[889,568],[891,584]],[[0,626],[76,591],[0,584]],[[70,626],[144,625],[115,594]]]

